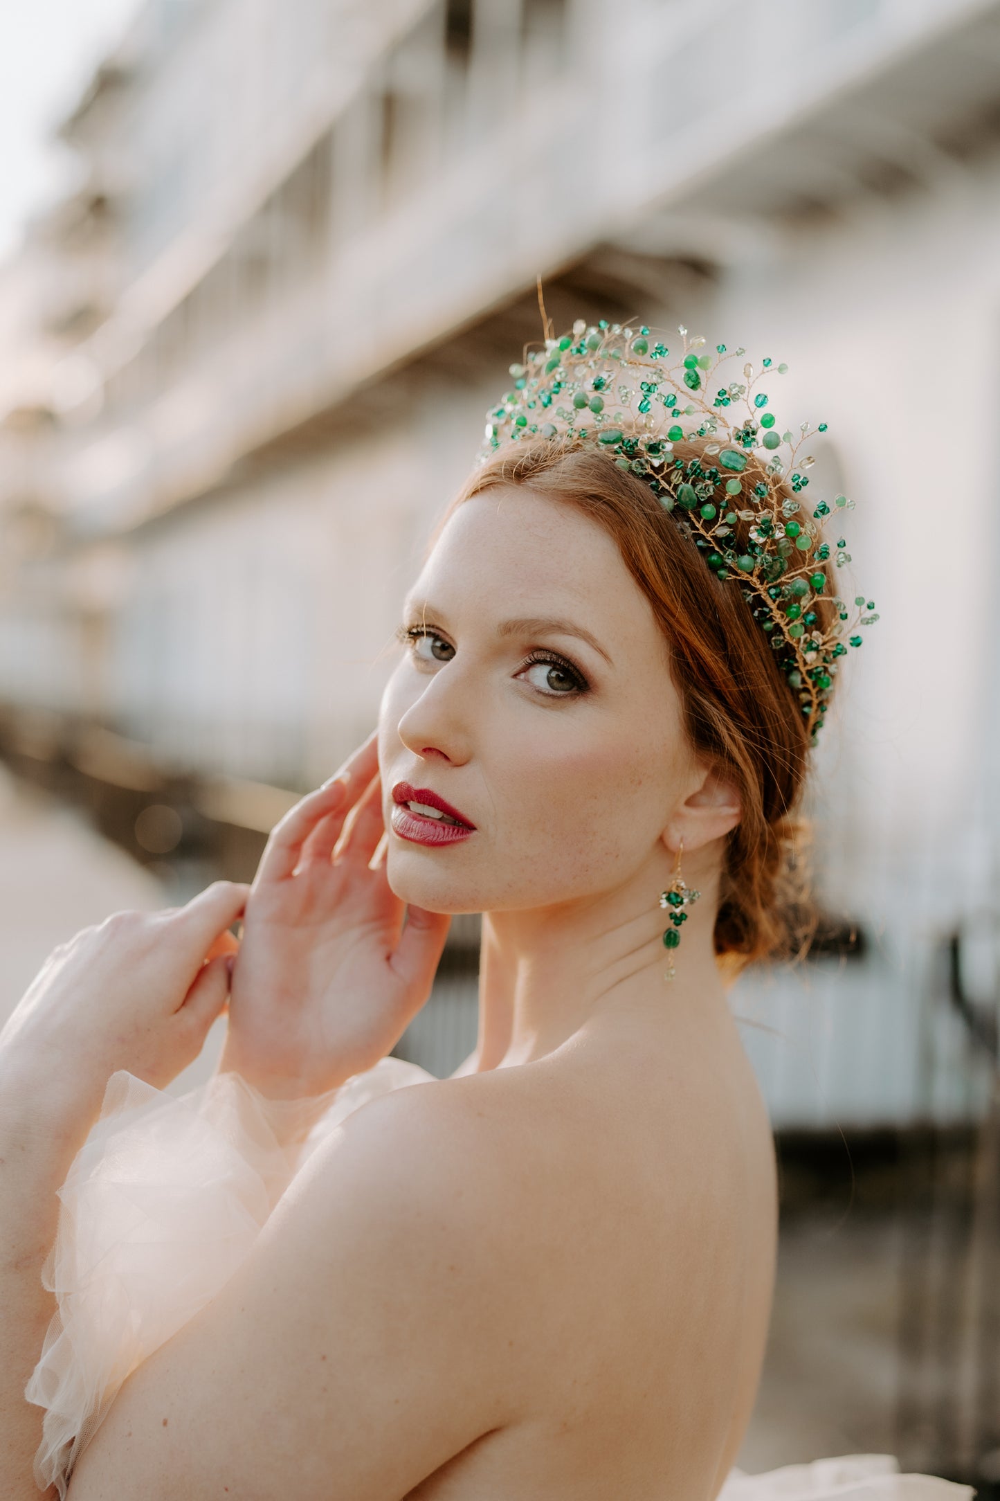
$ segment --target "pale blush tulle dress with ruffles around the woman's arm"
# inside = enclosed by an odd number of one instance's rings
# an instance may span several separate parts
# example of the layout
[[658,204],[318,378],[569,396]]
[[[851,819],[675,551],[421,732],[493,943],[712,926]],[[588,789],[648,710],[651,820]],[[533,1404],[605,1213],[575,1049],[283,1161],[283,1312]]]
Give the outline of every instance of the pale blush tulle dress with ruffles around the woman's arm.
[[[127,1072],[58,1190],[42,1280],[58,1312],[25,1387],[45,1408],[34,1456],[60,1498],[123,1381],[234,1274],[292,1175],[346,1115],[432,1075],[399,1058],[310,1102],[267,1100],[235,1073],[183,1096]],[[309,1124],[310,1123],[310,1124]],[[285,1142],[294,1145],[283,1145]],[[718,1501],[970,1501],[970,1486],[903,1475],[892,1454],[846,1454],[748,1475]]]

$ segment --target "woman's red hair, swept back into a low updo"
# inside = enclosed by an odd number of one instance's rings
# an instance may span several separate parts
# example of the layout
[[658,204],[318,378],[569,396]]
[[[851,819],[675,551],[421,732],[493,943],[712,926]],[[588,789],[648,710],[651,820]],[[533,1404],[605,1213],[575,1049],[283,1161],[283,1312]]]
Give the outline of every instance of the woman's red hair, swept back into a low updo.
[[[700,456],[702,447],[678,443],[675,455]],[[465,500],[498,485],[576,506],[615,539],[670,645],[691,746],[738,788],[742,817],[727,835],[715,917],[721,967],[735,976],[751,961],[802,953],[814,917],[805,901],[807,824],[795,811],[808,731],[738,578],[718,579],[649,486],[595,449],[525,443],[498,455],[474,471],[442,525]],[[738,524],[735,543],[747,530]]]

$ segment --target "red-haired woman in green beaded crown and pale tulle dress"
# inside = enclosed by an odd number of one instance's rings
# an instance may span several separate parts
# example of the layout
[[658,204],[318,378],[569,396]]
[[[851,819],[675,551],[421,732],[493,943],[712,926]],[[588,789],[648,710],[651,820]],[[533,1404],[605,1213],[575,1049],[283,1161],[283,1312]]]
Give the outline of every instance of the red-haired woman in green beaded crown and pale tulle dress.
[[[733,1471],[777,1192],[726,986],[787,941],[847,611],[766,393],[700,348],[577,324],[513,366],[378,741],[249,892],[79,935],[0,1034],[0,1493],[37,1447],[70,1501],[970,1495]],[[438,1081],[387,1054],[466,911]]]

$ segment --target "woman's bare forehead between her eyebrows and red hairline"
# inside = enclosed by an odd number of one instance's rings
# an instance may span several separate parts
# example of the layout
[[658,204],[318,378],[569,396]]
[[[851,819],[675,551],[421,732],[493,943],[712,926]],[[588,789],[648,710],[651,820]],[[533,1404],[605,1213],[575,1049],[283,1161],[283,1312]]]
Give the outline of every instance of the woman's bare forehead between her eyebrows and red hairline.
[[601,620],[655,629],[615,539],[570,501],[525,485],[496,485],[457,506],[409,597],[472,599],[505,614],[573,609],[592,629]]

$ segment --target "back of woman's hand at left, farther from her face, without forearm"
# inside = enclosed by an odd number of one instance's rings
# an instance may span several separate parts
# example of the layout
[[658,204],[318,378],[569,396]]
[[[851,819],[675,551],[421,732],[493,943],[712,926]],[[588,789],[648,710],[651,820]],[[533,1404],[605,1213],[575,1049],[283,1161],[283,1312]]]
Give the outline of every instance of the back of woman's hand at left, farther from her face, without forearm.
[[115,913],[55,949],[0,1031],[0,1088],[27,1081],[96,1115],[117,1069],[169,1084],[225,1009],[226,929],[247,890],[216,881],[186,907]]

